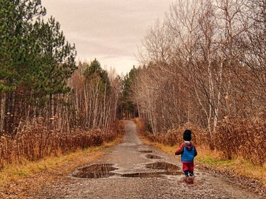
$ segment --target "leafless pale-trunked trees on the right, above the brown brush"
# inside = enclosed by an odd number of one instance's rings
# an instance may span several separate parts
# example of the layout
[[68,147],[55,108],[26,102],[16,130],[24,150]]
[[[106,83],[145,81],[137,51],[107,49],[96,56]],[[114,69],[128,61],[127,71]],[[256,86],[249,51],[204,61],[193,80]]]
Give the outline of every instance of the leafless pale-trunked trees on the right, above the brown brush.
[[[245,85],[245,79],[250,82],[257,78],[260,85],[265,84],[261,73],[265,66],[262,28],[256,29],[260,33],[257,34],[260,39],[255,40],[259,47],[255,48],[255,42],[247,45],[248,53],[243,47],[255,38],[255,25],[253,29],[248,26],[257,18],[253,16],[245,19],[247,23],[241,22],[244,13],[250,11],[247,5],[251,3],[246,0],[179,0],[170,6],[163,23],[156,21],[148,30],[139,56],[146,67],[135,81],[134,98],[140,109],[150,107],[147,114],[154,130],[159,125],[160,129],[169,127],[166,120],[190,122],[207,127],[213,136],[218,120],[245,114],[243,108],[247,110],[248,103],[244,99],[252,101],[246,91],[253,87],[253,84]],[[262,13],[262,5],[257,15]],[[263,17],[260,21],[264,22]],[[255,55],[255,52],[260,53]],[[255,70],[257,62],[262,66],[260,70]],[[253,77],[248,75],[250,69],[244,64],[252,69]],[[143,95],[153,99],[145,100]]]

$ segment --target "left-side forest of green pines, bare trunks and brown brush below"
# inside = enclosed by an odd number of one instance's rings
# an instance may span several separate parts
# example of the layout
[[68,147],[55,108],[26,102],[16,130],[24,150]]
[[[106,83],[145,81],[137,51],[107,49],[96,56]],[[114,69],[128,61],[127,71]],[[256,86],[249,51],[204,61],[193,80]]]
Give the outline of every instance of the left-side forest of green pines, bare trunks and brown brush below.
[[98,146],[117,135],[119,76],[76,62],[39,0],[0,0],[0,168]]

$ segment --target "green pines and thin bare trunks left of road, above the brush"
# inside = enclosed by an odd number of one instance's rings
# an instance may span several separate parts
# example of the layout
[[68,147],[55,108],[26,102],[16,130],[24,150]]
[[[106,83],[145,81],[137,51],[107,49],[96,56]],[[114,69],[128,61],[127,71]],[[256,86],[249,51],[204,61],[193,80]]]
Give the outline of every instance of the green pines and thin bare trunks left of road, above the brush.
[[0,135],[14,136],[27,125],[108,132],[121,78],[96,59],[75,62],[74,44],[45,14],[40,0],[0,0]]

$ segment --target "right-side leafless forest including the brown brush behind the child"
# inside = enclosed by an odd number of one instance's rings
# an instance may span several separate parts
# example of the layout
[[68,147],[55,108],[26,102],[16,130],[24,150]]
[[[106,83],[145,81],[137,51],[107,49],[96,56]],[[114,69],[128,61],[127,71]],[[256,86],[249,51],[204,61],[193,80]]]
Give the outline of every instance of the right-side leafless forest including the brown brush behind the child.
[[266,156],[266,2],[175,1],[148,29],[130,98],[152,140],[197,145],[254,164]]

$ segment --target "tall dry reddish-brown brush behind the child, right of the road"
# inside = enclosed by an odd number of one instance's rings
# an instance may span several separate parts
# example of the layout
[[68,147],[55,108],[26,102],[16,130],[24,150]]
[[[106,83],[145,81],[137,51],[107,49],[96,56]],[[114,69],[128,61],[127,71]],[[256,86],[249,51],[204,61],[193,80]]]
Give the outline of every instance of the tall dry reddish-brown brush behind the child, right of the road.
[[145,124],[136,120],[140,132],[152,142],[173,146],[181,144],[183,132],[192,130],[192,142],[196,146],[209,147],[222,154],[223,159],[245,159],[255,165],[264,165],[266,162],[266,121],[262,118],[244,120],[240,118],[227,119],[218,123],[214,135],[210,135],[196,125],[185,124],[175,127],[166,133],[153,134],[145,131]]

